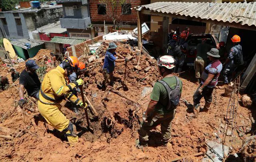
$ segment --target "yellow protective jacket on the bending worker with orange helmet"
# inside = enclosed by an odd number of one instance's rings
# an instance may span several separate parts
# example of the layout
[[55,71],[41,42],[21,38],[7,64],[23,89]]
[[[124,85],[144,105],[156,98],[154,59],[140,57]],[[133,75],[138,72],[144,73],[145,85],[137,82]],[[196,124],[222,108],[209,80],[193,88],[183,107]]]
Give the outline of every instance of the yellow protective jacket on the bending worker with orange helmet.
[[72,94],[72,89],[76,88],[76,84],[70,83],[66,85],[64,73],[65,70],[57,66],[56,69],[50,70],[44,76],[39,93],[39,101],[41,103],[46,105],[58,104],[64,97],[76,105],[82,102]]

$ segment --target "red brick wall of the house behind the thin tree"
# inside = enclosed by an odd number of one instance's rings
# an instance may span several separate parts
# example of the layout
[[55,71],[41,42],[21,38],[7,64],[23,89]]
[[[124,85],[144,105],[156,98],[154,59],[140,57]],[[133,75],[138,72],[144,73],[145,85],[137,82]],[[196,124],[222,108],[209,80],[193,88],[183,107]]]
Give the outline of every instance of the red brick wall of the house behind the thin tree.
[[[150,0],[126,0],[126,1],[127,1],[126,2],[127,4],[132,5],[132,8],[150,3]],[[111,23],[112,19],[107,16],[108,14],[106,15],[98,14],[97,4],[100,4],[99,0],[90,0],[90,17],[91,17],[92,23],[102,23],[104,20],[107,23]],[[122,7],[120,6],[118,7],[118,16],[120,16],[121,14],[122,14]],[[147,17],[144,17],[144,18],[147,18]],[[128,22],[128,24],[136,24],[137,23],[136,10],[132,9],[132,14],[130,15],[121,15],[118,21]]]

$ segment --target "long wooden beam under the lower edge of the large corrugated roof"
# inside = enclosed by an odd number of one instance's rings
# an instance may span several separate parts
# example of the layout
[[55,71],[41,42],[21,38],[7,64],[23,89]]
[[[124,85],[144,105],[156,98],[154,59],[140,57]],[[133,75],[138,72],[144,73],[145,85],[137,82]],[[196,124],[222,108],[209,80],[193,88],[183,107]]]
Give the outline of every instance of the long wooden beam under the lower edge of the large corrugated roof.
[[142,14],[145,15],[155,15],[155,16],[165,16],[165,17],[172,17],[172,18],[178,18],[178,19],[184,19],[184,20],[191,20],[191,21],[198,21],[198,22],[204,22],[204,23],[212,23],[212,24],[218,24],[218,25],[223,25],[223,26],[229,26],[229,27],[235,27],[239,29],[247,29],[247,30],[254,30],[256,31],[255,25],[241,25],[240,23],[235,23],[235,22],[223,22],[223,21],[217,21],[217,20],[206,20],[206,19],[201,19],[201,18],[195,18],[195,17],[190,17],[190,16],[181,16],[181,15],[176,15],[176,14],[166,14],[166,13],[161,13],[161,12],[154,12],[150,10],[141,10]]

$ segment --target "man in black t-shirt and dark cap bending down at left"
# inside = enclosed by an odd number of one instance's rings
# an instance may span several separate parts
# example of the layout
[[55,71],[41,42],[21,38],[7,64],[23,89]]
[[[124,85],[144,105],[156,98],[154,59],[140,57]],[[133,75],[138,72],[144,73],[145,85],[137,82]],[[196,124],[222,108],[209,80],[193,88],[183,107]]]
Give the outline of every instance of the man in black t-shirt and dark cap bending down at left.
[[41,82],[36,74],[36,70],[39,68],[37,66],[36,61],[28,60],[26,62],[26,68],[20,73],[20,81],[19,81],[19,96],[20,100],[18,101],[18,105],[22,107],[26,101],[24,100],[24,88],[28,92],[28,96],[39,98],[39,90]]

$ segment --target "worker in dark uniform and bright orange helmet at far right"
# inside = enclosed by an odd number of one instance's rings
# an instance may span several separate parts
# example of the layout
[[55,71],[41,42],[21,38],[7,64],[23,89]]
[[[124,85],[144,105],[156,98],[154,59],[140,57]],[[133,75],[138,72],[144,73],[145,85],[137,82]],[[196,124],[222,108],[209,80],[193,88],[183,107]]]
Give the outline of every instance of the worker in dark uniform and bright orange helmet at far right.
[[228,79],[228,75],[234,72],[235,68],[239,65],[244,64],[242,46],[239,44],[241,38],[238,35],[234,35],[231,38],[231,41],[233,43],[233,47],[230,49],[228,58],[223,64],[225,67],[223,70],[224,84],[228,84],[231,81],[231,78]]

